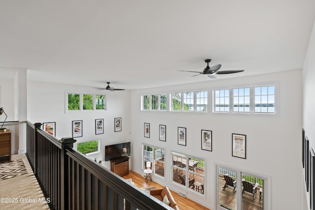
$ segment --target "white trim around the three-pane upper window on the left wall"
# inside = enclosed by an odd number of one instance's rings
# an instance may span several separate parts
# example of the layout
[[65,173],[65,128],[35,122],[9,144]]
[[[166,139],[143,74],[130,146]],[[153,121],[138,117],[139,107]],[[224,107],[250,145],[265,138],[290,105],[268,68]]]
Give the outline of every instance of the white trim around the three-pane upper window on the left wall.
[[[79,110],[68,110],[68,94],[79,94],[79,103],[80,103]],[[92,110],[83,110],[83,95],[93,95],[93,109]],[[96,95],[104,95],[105,109],[96,109],[96,104],[95,104]],[[107,111],[107,95],[106,94],[66,90],[64,93],[64,98],[65,98],[64,113],[106,112]]]

